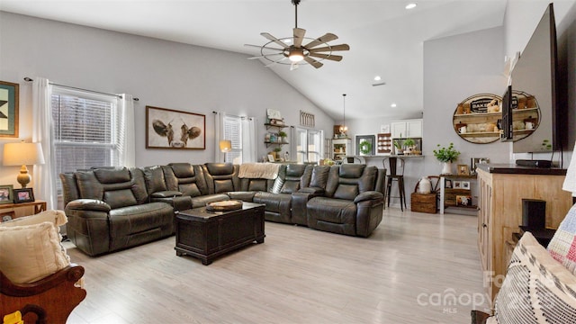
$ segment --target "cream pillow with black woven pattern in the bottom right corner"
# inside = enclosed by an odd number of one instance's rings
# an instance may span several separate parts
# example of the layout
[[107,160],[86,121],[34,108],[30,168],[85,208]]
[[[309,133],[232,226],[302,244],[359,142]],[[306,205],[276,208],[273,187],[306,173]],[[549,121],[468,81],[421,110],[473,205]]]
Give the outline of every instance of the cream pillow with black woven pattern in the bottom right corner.
[[556,262],[530,232],[512,253],[494,303],[498,323],[575,323],[576,277]]

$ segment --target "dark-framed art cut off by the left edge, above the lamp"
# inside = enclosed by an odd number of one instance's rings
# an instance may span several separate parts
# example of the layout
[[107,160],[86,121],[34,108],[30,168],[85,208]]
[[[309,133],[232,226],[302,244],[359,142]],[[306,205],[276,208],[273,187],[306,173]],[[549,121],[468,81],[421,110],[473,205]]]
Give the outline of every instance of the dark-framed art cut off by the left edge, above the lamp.
[[18,137],[19,86],[0,81],[0,137]]

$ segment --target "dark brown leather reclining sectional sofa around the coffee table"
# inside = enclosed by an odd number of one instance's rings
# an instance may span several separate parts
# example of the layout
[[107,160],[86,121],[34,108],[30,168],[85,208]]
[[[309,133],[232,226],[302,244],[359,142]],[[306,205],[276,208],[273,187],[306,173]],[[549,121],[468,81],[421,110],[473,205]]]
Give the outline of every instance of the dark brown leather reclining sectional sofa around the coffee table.
[[67,236],[90,256],[175,233],[175,211],[238,199],[266,205],[266,220],[368,237],[383,217],[385,170],[375,166],[277,166],[248,177],[242,166],[173,163],[94,167],[60,175]]

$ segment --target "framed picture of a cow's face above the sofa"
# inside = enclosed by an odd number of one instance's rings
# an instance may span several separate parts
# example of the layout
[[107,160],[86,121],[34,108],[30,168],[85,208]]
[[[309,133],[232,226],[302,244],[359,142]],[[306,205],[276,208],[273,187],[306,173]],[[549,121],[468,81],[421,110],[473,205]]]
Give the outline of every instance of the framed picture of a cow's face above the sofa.
[[146,148],[206,149],[206,115],[146,106]]

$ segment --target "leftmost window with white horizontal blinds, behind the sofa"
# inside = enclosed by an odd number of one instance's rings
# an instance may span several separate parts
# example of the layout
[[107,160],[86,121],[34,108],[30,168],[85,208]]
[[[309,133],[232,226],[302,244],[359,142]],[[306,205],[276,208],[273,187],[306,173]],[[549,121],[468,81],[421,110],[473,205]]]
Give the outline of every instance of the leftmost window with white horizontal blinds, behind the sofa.
[[51,111],[57,175],[92,166],[118,166],[116,98],[54,87]]

